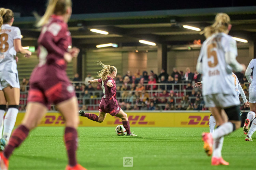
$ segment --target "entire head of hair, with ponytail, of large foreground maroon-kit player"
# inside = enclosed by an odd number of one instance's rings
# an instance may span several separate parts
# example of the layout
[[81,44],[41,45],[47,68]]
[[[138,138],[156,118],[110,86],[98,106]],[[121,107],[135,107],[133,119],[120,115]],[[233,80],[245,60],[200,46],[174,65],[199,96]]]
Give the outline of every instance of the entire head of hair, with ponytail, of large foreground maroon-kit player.
[[72,6],[71,0],[49,0],[43,17],[38,21],[37,27],[46,24],[51,15],[63,15],[67,11],[67,7]]

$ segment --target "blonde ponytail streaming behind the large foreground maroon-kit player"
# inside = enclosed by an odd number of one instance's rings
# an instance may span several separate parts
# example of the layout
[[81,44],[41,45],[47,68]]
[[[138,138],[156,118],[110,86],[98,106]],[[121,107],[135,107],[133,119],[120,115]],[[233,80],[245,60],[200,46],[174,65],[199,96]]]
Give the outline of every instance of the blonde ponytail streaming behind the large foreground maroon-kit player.
[[37,27],[42,27],[44,24],[46,24],[50,18],[50,16],[53,14],[55,10],[55,6],[57,4],[58,0],[49,0],[46,11],[43,15],[43,17],[38,21]]

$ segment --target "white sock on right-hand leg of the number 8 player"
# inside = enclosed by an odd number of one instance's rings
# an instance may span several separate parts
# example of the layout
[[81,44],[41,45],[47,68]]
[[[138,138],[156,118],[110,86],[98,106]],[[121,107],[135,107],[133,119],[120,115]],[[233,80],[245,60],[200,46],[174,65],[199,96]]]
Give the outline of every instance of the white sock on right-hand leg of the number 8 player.
[[16,117],[17,117],[17,114],[18,114],[19,110],[17,108],[9,108],[6,115],[5,115],[5,118],[4,118],[4,121],[3,121],[3,136],[2,138],[4,138],[6,141],[9,141],[10,139],[10,136],[12,134],[12,130],[13,130],[13,127],[15,125],[15,122],[16,122]]

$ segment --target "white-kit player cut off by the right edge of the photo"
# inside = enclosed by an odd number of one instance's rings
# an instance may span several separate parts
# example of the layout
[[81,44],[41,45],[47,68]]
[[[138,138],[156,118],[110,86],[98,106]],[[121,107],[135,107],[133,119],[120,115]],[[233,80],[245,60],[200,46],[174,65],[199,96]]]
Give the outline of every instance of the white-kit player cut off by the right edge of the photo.
[[[256,66],[256,59],[253,59],[246,71],[245,71],[245,76],[248,82],[250,83],[249,86],[249,102],[250,102],[250,112],[247,114],[247,118],[244,121],[244,127],[243,131],[244,134],[248,135],[245,137],[245,141],[253,141],[252,140],[252,135],[256,130],[256,118],[255,118],[255,113],[256,113],[256,71],[253,71],[254,67]],[[251,77],[251,73],[253,72],[253,78]],[[248,132],[248,128],[250,125],[250,122],[252,121],[252,125],[250,128],[250,131]]]

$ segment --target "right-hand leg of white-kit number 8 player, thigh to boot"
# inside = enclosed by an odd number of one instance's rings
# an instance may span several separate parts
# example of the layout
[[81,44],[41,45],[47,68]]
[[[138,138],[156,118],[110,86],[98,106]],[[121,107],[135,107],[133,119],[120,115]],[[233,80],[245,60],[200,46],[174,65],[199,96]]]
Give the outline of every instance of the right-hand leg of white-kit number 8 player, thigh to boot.
[[[1,141],[3,141],[4,139],[7,143],[11,136],[12,130],[16,122],[16,117],[19,112],[20,89],[8,86],[3,89],[3,92],[5,99],[8,103],[8,111],[3,121],[3,135]],[[0,143],[0,147],[3,147],[2,142]]]

